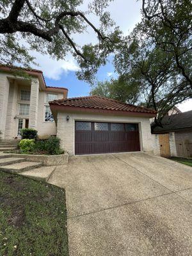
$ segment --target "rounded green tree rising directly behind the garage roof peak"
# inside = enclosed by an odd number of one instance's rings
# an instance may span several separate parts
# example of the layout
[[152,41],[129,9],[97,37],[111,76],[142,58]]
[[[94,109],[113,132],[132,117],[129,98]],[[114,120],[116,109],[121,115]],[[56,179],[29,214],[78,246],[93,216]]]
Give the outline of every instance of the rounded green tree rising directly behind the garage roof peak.
[[111,79],[111,81],[97,83],[96,86],[92,87],[90,94],[128,104],[136,104],[140,97],[140,84],[132,79],[131,76],[129,76],[129,79],[122,76],[118,79]]

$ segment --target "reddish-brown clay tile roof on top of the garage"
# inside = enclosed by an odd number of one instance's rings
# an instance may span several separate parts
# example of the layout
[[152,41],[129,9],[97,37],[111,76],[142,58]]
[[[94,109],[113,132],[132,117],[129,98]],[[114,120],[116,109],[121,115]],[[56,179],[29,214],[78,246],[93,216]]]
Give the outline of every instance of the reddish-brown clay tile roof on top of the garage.
[[83,109],[86,108],[86,109],[95,109],[95,110],[102,109],[102,110],[108,110],[108,111],[124,111],[125,113],[137,112],[137,113],[156,114],[156,111],[154,109],[134,106],[131,104],[118,102],[117,100],[107,99],[97,95],[53,100],[49,102],[49,104],[51,105],[51,107],[56,105],[63,108],[74,107],[74,108],[83,108]]

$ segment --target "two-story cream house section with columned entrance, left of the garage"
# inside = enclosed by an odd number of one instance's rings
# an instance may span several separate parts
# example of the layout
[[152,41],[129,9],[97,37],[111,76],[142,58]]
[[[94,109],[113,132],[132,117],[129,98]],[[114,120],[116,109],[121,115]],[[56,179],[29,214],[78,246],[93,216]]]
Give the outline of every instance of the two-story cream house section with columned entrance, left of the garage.
[[24,127],[37,129],[41,137],[56,135],[49,101],[67,98],[68,90],[46,86],[40,70],[24,71],[30,77],[21,77],[10,68],[0,66],[1,137],[20,137]]

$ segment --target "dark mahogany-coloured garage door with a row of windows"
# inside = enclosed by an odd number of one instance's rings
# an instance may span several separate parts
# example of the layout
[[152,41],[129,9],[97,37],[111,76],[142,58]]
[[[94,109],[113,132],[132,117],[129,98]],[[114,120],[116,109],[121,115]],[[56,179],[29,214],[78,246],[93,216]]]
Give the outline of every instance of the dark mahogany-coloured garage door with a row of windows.
[[76,121],[77,155],[129,151],[140,151],[138,124]]

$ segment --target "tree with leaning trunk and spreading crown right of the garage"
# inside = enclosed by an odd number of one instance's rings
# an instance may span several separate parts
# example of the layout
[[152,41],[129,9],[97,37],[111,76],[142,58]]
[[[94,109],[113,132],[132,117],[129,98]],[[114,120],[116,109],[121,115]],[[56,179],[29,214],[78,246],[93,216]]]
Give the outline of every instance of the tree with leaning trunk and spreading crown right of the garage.
[[[148,37],[145,24],[139,24],[122,44],[114,64],[120,76],[140,84],[141,102],[158,111],[155,126],[162,126],[161,120],[168,110],[183,100],[191,98],[191,87],[175,64],[172,52],[164,52]],[[130,74],[135,74],[130,76]],[[152,128],[154,128],[152,127]]]

